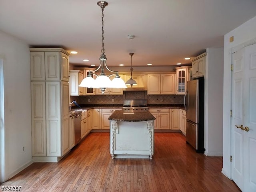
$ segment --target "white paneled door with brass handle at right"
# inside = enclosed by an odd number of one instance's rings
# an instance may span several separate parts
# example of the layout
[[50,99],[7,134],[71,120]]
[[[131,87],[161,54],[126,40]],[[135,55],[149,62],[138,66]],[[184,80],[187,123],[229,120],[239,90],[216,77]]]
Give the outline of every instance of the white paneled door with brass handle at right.
[[232,54],[232,64],[232,180],[243,192],[255,192],[256,45]]

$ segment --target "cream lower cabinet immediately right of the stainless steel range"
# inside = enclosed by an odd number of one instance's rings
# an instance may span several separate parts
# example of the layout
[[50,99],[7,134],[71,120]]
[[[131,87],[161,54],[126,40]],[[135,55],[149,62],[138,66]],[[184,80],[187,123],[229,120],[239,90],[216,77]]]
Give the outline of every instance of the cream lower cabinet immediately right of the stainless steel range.
[[170,129],[170,110],[168,108],[150,108],[149,112],[156,118],[154,129]]

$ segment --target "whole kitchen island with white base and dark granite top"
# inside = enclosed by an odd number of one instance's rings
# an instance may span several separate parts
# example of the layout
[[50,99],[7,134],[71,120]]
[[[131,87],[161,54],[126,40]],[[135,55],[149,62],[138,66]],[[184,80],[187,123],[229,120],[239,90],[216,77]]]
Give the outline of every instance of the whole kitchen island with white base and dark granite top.
[[110,120],[112,158],[150,158],[154,155],[154,120],[149,111],[116,110]]

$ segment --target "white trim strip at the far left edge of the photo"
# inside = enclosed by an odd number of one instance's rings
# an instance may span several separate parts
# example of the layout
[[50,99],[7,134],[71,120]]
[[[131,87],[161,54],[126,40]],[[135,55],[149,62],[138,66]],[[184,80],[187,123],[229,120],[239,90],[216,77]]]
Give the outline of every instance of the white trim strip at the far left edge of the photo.
[[0,58],[0,183],[5,181],[4,142],[4,64]]

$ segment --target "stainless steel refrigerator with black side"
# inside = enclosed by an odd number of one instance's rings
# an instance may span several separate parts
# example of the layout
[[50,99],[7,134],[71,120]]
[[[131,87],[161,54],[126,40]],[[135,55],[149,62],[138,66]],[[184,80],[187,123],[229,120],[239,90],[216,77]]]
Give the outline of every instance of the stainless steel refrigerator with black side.
[[184,96],[186,110],[186,142],[204,152],[204,78],[188,81]]

